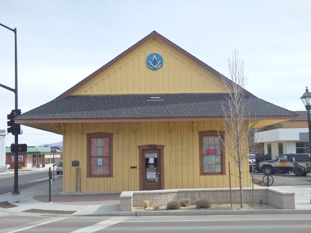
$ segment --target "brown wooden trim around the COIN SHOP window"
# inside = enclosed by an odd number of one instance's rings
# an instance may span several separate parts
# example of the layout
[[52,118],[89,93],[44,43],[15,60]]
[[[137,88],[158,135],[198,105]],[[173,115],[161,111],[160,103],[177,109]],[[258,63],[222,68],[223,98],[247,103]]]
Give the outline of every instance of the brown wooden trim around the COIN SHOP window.
[[[87,178],[90,177],[113,177],[113,135],[111,133],[93,133],[93,134],[86,134],[86,155],[87,155],[87,163],[86,163],[86,172]],[[91,175],[91,138],[109,138],[109,175]]]

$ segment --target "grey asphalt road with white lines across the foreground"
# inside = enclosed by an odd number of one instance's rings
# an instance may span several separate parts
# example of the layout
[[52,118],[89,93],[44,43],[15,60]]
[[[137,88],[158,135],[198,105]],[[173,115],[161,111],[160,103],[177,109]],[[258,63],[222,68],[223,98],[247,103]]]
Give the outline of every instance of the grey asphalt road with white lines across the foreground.
[[[8,221],[11,220],[11,221]],[[308,232],[311,215],[214,215],[156,217],[27,216],[0,212],[0,233]]]

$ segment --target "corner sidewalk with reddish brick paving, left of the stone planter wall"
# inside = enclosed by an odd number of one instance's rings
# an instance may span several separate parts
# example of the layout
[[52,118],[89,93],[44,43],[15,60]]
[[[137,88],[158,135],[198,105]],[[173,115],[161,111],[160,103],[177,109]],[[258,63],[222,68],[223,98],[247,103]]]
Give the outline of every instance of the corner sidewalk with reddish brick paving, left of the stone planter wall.
[[[120,210],[120,193],[115,194],[62,194],[63,180],[51,184],[49,202],[49,183],[0,195],[0,208],[12,212],[42,214],[113,214]],[[61,193],[61,194],[60,194]]]

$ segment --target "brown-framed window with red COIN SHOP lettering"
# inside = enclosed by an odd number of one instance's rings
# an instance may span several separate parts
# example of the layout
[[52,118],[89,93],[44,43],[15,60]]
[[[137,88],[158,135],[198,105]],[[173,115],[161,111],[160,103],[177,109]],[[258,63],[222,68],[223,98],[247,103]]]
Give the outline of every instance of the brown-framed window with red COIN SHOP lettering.
[[112,139],[107,133],[87,135],[88,177],[112,176]]

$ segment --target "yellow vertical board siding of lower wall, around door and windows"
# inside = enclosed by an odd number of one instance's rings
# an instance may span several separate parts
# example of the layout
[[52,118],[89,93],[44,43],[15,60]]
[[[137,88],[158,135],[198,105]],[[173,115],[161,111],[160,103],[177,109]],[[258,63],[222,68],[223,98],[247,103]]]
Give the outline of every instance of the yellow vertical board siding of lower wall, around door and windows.
[[[164,145],[163,165],[165,189],[224,188],[229,186],[230,161],[232,187],[239,187],[239,171],[228,155],[225,158],[226,175],[200,176],[198,132],[223,130],[220,121],[198,121],[193,130],[192,121],[172,122],[83,123],[82,135],[78,123],[64,124],[64,192],[76,192],[77,167],[71,159],[80,161],[81,192],[103,193],[139,190],[139,151],[141,145]],[[219,128],[220,127],[220,128]],[[136,128],[136,134],[135,134]],[[113,133],[113,177],[86,178],[86,134]],[[81,143],[82,142],[82,143]],[[131,169],[137,166],[137,169]],[[243,186],[249,187],[248,163],[243,167]]]

